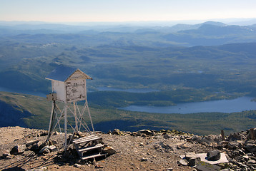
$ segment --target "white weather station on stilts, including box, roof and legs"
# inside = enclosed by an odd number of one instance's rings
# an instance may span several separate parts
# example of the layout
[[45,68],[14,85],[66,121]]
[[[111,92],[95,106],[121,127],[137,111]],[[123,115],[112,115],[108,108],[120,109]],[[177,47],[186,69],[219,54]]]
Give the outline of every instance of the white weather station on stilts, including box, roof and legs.
[[[78,131],[82,129],[86,130],[88,133],[94,133],[92,117],[87,102],[86,84],[86,80],[92,80],[92,78],[79,69],[59,66],[55,68],[54,71],[51,71],[49,76],[46,76],[46,79],[51,81],[52,89],[52,93],[46,95],[47,100],[52,101],[47,140],[51,138],[51,134],[56,127],[59,127],[59,131],[62,133],[61,130],[63,130],[63,125],[61,127],[60,121],[61,118],[64,117],[64,149],[67,150],[67,146],[70,144],[70,142],[67,142],[68,124],[71,130],[73,130],[73,134],[78,133]],[[79,110],[79,105],[77,105],[78,101],[84,101],[82,110]],[[57,102],[62,103],[61,106],[63,106],[63,108],[60,108],[59,105],[57,105]],[[89,127],[84,120],[84,113],[86,113],[86,110],[91,122],[92,132],[89,130]],[[69,122],[67,118],[67,115],[70,113],[74,116],[69,117],[69,120],[73,119],[73,123],[75,123],[74,127],[71,124],[72,122]]]

